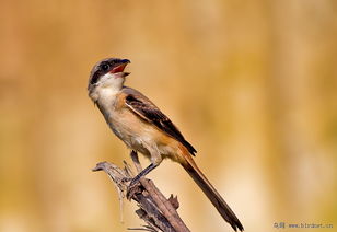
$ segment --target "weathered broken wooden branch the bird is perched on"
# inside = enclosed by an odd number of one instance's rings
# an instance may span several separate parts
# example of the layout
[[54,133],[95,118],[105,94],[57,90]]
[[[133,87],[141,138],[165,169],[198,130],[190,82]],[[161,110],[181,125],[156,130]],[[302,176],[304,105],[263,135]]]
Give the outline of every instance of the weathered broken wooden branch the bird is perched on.
[[[138,155],[131,152],[132,162],[138,172],[142,170]],[[125,162],[124,169],[109,162],[101,162],[93,171],[104,171],[113,181],[119,196],[120,210],[123,199],[128,196],[130,201],[136,201],[139,209],[136,213],[147,225],[130,230],[164,231],[164,232],[189,232],[176,209],[179,207],[176,197],[168,199],[148,178],[140,178],[139,183],[129,189],[129,182],[135,177],[130,166]],[[121,212],[123,214],[123,212]]]

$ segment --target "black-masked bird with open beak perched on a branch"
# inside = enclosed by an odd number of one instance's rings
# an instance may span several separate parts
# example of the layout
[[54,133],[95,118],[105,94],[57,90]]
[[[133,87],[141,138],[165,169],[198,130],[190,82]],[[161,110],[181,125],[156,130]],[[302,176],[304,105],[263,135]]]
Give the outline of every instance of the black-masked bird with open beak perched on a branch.
[[168,158],[182,164],[235,231],[243,231],[234,212],[195,163],[193,155],[197,151],[194,147],[148,97],[124,85],[125,78],[129,74],[124,69],[129,62],[128,59],[117,58],[97,62],[91,71],[88,90],[89,96],[98,106],[114,134],[129,149],[144,154],[151,161],[130,185]]

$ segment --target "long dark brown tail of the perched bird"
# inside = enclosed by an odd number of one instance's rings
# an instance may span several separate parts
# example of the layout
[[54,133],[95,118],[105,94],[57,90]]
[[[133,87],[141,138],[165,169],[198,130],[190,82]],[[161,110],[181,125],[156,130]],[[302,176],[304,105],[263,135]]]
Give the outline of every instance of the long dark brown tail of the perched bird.
[[183,163],[183,167],[187,171],[187,173],[193,177],[193,179],[197,183],[197,185],[202,189],[208,199],[213,204],[222,218],[229,222],[232,228],[236,231],[239,228],[240,231],[243,231],[243,227],[234,212],[231,210],[229,205],[224,201],[224,199],[220,196],[217,189],[209,183],[202,172],[198,169],[197,164],[193,161],[191,156],[187,156],[186,163]]

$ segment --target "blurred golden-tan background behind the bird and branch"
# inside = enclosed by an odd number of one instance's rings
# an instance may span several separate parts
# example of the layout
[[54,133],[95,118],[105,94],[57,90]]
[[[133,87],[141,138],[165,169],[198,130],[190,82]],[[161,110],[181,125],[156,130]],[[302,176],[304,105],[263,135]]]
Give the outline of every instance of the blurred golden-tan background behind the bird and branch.
[[[131,60],[127,84],[196,147],[246,231],[337,227],[336,1],[2,0],[0,15],[1,232],[143,224],[128,202],[120,223],[91,172],[130,161],[86,93],[106,57]],[[232,231],[179,165],[149,177],[191,231]]]

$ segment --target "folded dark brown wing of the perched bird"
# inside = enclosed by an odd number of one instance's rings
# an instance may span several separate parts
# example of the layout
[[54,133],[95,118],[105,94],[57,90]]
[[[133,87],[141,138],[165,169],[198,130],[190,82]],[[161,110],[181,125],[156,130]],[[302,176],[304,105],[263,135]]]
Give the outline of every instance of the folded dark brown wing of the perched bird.
[[181,131],[174,126],[170,118],[164,115],[150,100],[138,91],[126,88],[127,96],[125,98],[126,105],[138,116],[148,123],[155,125],[159,129],[166,132],[172,138],[182,142],[187,150],[195,155],[196,149],[185,140]]

